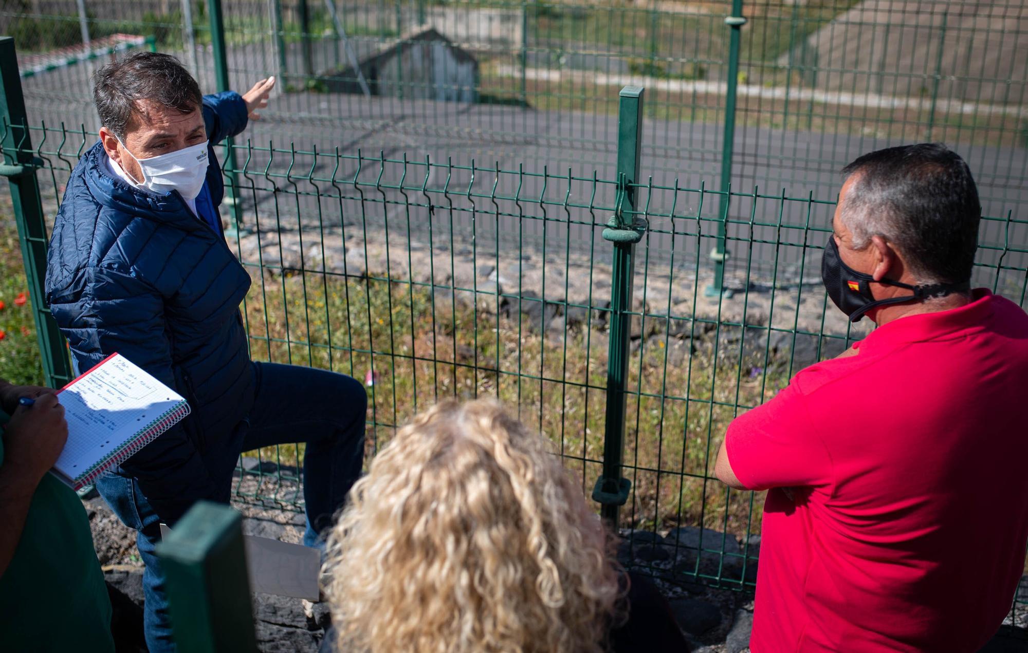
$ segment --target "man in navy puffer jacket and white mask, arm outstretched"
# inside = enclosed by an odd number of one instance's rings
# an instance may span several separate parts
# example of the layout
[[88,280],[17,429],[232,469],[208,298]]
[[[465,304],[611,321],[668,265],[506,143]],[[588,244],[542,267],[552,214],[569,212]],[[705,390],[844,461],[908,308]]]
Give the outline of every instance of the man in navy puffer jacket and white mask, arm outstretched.
[[214,146],[267,104],[274,78],[201,97],[170,55],[132,54],[95,77],[103,127],[65,191],[46,301],[79,371],[118,352],[185,396],[192,414],[97,488],[139,531],[151,651],[174,650],[159,525],[227,502],[240,453],[306,441],[304,543],[331,526],[361,472],[367,395],[331,372],[253,362],[240,303],[250,276],[225,243]]

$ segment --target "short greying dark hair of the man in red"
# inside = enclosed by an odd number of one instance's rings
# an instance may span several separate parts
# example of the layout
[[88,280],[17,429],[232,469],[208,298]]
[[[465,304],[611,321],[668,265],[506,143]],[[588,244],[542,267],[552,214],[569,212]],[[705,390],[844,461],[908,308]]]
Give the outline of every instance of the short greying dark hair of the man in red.
[[842,169],[856,176],[841,218],[862,248],[874,235],[895,243],[922,283],[970,278],[982,204],[970,168],[939,143],[871,152]]

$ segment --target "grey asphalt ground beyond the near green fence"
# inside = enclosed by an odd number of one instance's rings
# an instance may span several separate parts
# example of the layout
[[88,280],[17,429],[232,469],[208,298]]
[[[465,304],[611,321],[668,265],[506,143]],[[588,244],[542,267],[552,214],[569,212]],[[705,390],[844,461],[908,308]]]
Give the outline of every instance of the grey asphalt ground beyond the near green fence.
[[[355,41],[356,42],[356,41]],[[325,70],[334,66],[336,54],[331,44],[318,44],[315,48],[315,68]],[[364,49],[365,46],[360,46]],[[290,62],[298,56],[291,53]],[[183,56],[184,61],[189,57]],[[213,88],[213,74],[210,53],[197,52],[200,65],[197,75],[205,89]],[[343,57],[343,61],[344,57]],[[245,90],[257,79],[276,72],[274,57],[261,45],[241,46],[230,52],[231,79],[235,88]],[[95,128],[85,67],[54,71],[27,80],[26,97],[30,120],[38,123],[45,120],[48,125],[64,122],[68,125],[85,123],[87,129]],[[298,72],[298,71],[291,71]],[[511,80],[512,85],[515,80]],[[572,89],[573,90],[573,89]],[[616,89],[611,89],[609,106],[615,106]],[[276,170],[285,172],[288,164],[293,164],[293,175],[307,174],[314,168],[319,176],[331,174],[332,157],[314,160],[308,154],[292,155],[291,150],[307,151],[314,148],[320,153],[333,153],[336,148],[341,154],[378,157],[381,152],[387,159],[424,162],[427,158],[435,163],[451,162],[456,166],[469,166],[472,161],[483,168],[499,167],[507,174],[476,174],[474,184],[468,170],[434,167],[429,180],[417,179],[415,185],[426,184],[430,189],[442,189],[444,184],[446,201],[452,201],[462,189],[467,195],[469,186],[472,195],[491,193],[514,198],[501,202],[500,213],[508,216],[524,216],[518,229],[501,229],[508,235],[508,245],[539,246],[544,237],[548,246],[563,248],[571,240],[573,248],[587,251],[589,243],[599,246],[600,229],[575,222],[596,222],[602,224],[614,205],[614,189],[611,184],[598,184],[593,205],[600,207],[594,212],[560,212],[547,208],[547,202],[561,202],[572,197],[572,203],[588,203],[584,195],[591,195],[593,185],[589,182],[574,181],[568,192],[566,181],[560,178],[568,175],[585,180],[616,179],[618,121],[615,115],[586,111],[547,110],[547,99],[540,99],[542,106],[522,108],[517,106],[467,105],[438,103],[426,100],[403,100],[398,98],[364,98],[345,93],[321,93],[307,91],[280,92],[259,122],[252,123],[246,135],[237,143],[248,139],[254,147],[267,148],[268,144],[277,152],[268,161],[266,152],[252,152],[248,170]],[[556,101],[553,101],[556,104]],[[686,112],[684,112],[685,114]],[[723,125],[688,120],[662,120],[645,118],[640,158],[640,183],[648,183],[652,177],[655,186],[673,187],[689,191],[673,192],[657,190],[640,193],[649,202],[651,214],[668,213],[674,206],[675,216],[715,218],[719,216],[720,201],[717,195],[701,193],[720,188],[722,167]],[[797,131],[755,127],[740,124],[735,133],[732,164],[732,190],[772,197],[733,198],[728,208],[732,220],[748,223],[750,218],[760,223],[780,224],[786,233],[774,227],[757,227],[750,231],[748,225],[729,227],[729,237],[741,238],[747,242],[729,243],[733,257],[730,267],[739,271],[740,266],[751,266],[757,270],[767,269],[776,259],[783,269],[793,276],[800,274],[801,266],[812,269],[819,253],[822,235],[809,234],[804,226],[824,228],[831,220],[831,206],[810,204],[805,200],[832,201],[838,193],[838,170],[856,156],[882,147],[898,143],[868,137],[852,137],[839,133]],[[983,225],[981,241],[987,245],[1028,248],[1028,151],[1022,147],[992,147],[977,145],[953,145],[967,160],[976,175],[983,198],[984,213],[996,218],[1012,218],[1013,223],[987,222]],[[242,161],[240,162],[242,165]],[[328,166],[328,167],[327,167]],[[380,181],[383,185],[395,184],[401,178],[409,186],[419,175],[426,176],[424,166],[407,166],[404,176],[402,164],[379,165]],[[336,179],[353,179],[356,174],[353,162],[343,162]],[[374,179],[374,166],[362,163],[360,180]],[[523,174],[519,174],[519,170]],[[549,176],[543,184],[543,174]],[[445,175],[444,175],[445,172]],[[448,183],[446,181],[448,178]],[[259,185],[258,185],[259,186]],[[269,186],[267,188],[270,188]],[[285,186],[287,192],[288,184]],[[283,202],[282,196],[271,192],[249,193],[245,198],[247,213],[256,210],[263,217],[269,212],[277,218],[276,228],[292,221],[303,224],[304,229],[325,222],[326,208],[318,205],[316,199],[306,195],[310,189],[300,191],[293,201]],[[775,199],[784,195],[796,201]],[[374,200],[375,202],[377,202]],[[410,218],[411,229],[420,233],[428,231],[427,210],[414,206],[410,213],[409,202],[387,192],[383,201],[365,202],[363,206],[336,208],[342,213],[342,224],[356,220],[355,212],[363,210],[367,223],[369,210],[376,214],[375,221],[381,228],[386,222],[394,233],[405,230]],[[540,199],[544,201],[540,203]],[[637,198],[641,202],[642,198]],[[433,201],[435,201],[433,199]],[[464,199],[465,204],[469,200]],[[321,202],[324,203],[324,200]],[[423,203],[430,203],[423,200]],[[474,203],[471,201],[470,203]],[[481,202],[478,202],[479,204]],[[468,234],[471,220],[479,220],[476,212],[481,206],[460,208],[454,215],[456,233]],[[525,209],[526,205],[533,208]],[[319,213],[317,209],[321,208]],[[559,209],[559,206],[556,206]],[[644,205],[638,206],[644,209]],[[327,210],[331,212],[331,208]],[[546,220],[540,220],[545,213]],[[297,216],[299,221],[297,222]],[[336,218],[335,221],[339,219]],[[330,223],[335,221],[329,221]],[[1017,222],[1020,221],[1020,222]],[[265,223],[267,221],[265,220]],[[695,221],[693,221],[695,223]],[[689,231],[688,221],[671,221],[656,215],[650,216],[650,224],[658,231]],[[667,234],[653,234],[648,242],[651,253],[658,258],[666,258],[672,247],[680,263],[687,264],[697,256],[706,260],[712,247],[713,223],[700,225],[703,238],[681,237],[672,240]],[[793,227],[792,231],[788,228]],[[695,226],[693,227],[695,229]],[[591,232],[591,236],[589,235]],[[490,241],[483,231],[476,228],[482,244]],[[808,246],[803,246],[807,237]],[[781,239],[795,242],[796,246],[776,247],[773,241]],[[769,241],[769,242],[761,242]],[[609,245],[604,245],[609,246]],[[1002,256],[1002,264],[1013,267],[1028,267],[1028,255],[1002,251],[983,252],[981,260],[995,264]],[[989,272],[989,274],[993,274]],[[806,276],[806,274],[804,274]],[[1016,275],[1015,275],[1016,276]],[[1023,276],[1023,274],[1022,274]]]

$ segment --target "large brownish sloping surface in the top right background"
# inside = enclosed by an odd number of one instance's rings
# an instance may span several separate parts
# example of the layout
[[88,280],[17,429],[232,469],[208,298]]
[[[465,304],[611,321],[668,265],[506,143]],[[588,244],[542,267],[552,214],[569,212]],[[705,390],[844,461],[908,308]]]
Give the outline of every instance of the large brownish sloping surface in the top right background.
[[865,0],[777,63],[825,90],[1019,104],[1026,53],[1023,3]]

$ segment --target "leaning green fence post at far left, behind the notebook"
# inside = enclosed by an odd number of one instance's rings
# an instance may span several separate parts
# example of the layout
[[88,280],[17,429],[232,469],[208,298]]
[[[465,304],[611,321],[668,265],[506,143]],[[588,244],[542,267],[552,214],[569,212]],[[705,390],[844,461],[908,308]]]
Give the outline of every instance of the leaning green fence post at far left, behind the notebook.
[[22,79],[17,72],[14,39],[9,36],[0,37],[0,123],[3,130],[0,146],[4,152],[0,175],[7,178],[10,186],[43,374],[46,385],[60,388],[72,380],[73,374],[65,339],[43,300],[48,243],[46,221],[39,181],[33,166],[32,140],[28,130],[25,97],[22,94]]

